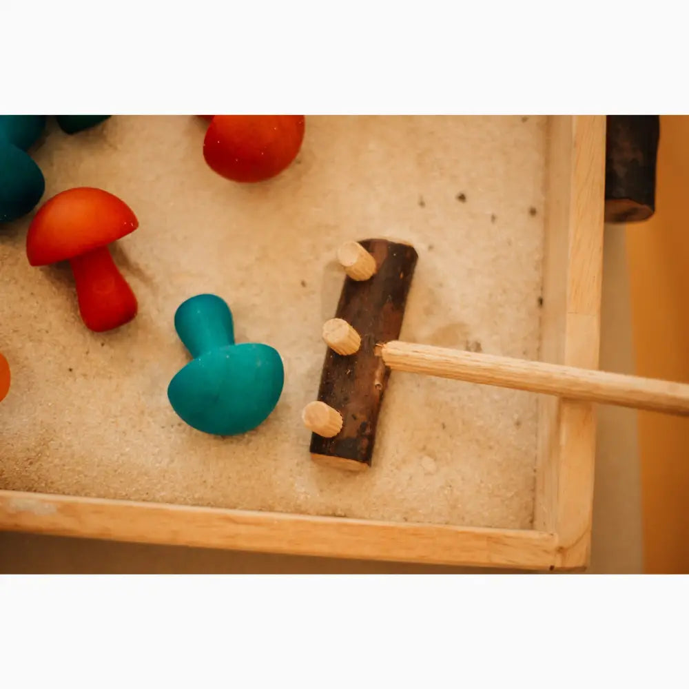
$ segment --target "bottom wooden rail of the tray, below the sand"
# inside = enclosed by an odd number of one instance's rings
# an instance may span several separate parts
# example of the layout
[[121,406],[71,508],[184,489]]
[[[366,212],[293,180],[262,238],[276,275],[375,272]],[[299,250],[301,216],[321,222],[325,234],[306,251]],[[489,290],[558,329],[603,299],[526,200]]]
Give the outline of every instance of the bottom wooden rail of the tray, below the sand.
[[388,562],[554,570],[545,531],[376,522],[0,491],[0,530]]

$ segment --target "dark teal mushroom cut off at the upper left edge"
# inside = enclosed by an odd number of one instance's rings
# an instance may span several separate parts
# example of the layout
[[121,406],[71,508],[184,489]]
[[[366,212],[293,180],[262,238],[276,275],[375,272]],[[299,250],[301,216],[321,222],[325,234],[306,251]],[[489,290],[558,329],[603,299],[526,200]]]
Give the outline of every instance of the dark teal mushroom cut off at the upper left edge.
[[39,166],[27,153],[45,127],[45,115],[0,115],[0,223],[28,213],[45,192]]

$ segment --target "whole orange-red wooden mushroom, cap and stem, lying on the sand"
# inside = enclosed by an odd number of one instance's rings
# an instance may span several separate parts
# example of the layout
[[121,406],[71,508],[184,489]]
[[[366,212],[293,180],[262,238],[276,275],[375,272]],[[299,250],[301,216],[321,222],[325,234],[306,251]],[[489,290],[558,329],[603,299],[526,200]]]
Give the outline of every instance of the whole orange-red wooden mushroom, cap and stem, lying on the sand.
[[26,255],[34,266],[68,260],[86,327],[112,330],[132,320],[138,305],[107,245],[137,227],[132,209],[114,194],[93,187],[68,189],[46,201],[34,216]]

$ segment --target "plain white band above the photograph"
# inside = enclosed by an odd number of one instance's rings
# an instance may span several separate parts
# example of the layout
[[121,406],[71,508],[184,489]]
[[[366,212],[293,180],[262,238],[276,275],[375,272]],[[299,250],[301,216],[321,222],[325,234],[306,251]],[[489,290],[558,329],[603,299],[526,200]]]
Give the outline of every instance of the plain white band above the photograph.
[[2,109],[689,112],[686,21],[670,6],[666,0],[8,0]]

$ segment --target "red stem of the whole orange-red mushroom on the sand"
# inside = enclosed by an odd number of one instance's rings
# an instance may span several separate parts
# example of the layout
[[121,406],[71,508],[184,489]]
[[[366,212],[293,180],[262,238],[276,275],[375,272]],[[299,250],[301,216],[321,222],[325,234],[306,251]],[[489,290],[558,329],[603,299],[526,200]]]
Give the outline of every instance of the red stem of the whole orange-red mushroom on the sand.
[[136,316],[134,292],[114,264],[107,246],[70,259],[70,265],[86,327],[100,333],[125,325]]

